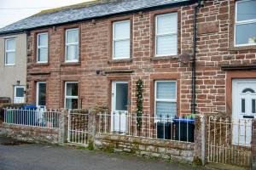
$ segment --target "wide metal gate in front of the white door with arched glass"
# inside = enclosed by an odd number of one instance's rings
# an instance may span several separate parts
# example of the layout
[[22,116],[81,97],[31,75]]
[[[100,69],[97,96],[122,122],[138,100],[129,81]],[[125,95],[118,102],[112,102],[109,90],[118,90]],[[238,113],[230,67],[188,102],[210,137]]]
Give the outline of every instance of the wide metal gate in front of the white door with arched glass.
[[207,122],[207,161],[250,167],[251,145],[247,141],[251,137],[252,119],[234,121],[210,116]]

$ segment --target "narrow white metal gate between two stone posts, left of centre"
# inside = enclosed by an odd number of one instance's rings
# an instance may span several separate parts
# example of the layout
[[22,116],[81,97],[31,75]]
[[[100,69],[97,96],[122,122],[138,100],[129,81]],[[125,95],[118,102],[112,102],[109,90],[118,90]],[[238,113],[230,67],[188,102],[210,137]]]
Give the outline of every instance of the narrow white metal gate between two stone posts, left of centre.
[[88,144],[89,114],[84,111],[68,111],[67,141],[72,144]]

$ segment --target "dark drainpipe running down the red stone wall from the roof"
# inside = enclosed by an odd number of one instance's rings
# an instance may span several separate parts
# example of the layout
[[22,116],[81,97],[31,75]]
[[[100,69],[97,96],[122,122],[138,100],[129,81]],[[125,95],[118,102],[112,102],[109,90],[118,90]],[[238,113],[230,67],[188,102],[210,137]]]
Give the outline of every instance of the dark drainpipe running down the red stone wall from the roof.
[[192,56],[192,65],[191,65],[191,74],[192,74],[192,96],[191,96],[191,114],[195,114],[196,101],[195,101],[195,57],[196,57],[196,37],[197,37],[197,10],[201,7],[201,0],[198,0],[197,5],[194,10],[194,37],[193,37],[193,56]]

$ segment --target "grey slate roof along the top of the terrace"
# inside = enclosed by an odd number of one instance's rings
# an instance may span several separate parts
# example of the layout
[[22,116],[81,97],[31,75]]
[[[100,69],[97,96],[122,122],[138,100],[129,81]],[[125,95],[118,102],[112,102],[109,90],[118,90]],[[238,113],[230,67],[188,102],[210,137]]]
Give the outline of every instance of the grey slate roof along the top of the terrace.
[[17,21],[0,29],[0,35],[189,2],[191,2],[191,0],[105,0],[87,4],[84,5],[84,7],[80,6],[79,8],[70,6],[70,8],[53,10],[52,12],[44,13],[43,11],[42,13]]

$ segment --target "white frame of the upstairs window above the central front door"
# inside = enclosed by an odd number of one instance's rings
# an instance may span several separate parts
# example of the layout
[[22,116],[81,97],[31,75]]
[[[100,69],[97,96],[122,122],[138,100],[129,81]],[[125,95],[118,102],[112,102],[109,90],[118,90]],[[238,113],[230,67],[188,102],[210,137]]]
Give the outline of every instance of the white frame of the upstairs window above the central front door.
[[[114,37],[114,32],[115,32],[115,24],[116,23],[122,23],[122,22],[129,22],[130,23],[130,37],[129,38],[115,38]],[[130,59],[131,58],[131,20],[120,20],[120,21],[114,21],[113,24],[113,32],[112,32],[112,59]],[[129,56],[122,56],[119,58],[116,58],[114,56],[114,42],[120,42],[120,41],[125,41],[125,40],[129,40],[129,46],[130,46],[130,53]]]

